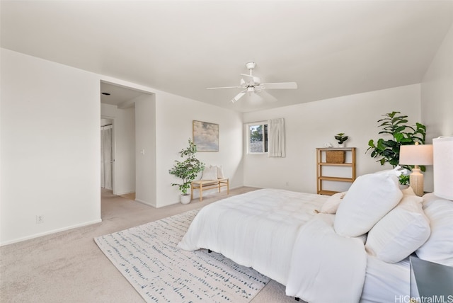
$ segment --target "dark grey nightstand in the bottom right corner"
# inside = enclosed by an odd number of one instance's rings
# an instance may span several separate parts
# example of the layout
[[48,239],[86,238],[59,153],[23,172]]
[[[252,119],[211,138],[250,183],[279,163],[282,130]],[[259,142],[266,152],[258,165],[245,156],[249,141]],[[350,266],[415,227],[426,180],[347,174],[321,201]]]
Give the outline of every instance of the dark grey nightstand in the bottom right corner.
[[411,302],[453,302],[453,267],[425,261],[416,256],[409,259]]

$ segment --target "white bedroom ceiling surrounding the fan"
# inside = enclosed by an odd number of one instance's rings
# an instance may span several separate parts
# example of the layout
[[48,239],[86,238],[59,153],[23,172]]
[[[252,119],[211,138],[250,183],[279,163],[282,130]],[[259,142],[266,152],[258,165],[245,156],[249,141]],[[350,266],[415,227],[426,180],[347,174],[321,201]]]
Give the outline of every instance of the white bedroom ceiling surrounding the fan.
[[[453,1],[1,1],[1,47],[238,111],[420,83]],[[276,103],[236,86],[246,62]]]

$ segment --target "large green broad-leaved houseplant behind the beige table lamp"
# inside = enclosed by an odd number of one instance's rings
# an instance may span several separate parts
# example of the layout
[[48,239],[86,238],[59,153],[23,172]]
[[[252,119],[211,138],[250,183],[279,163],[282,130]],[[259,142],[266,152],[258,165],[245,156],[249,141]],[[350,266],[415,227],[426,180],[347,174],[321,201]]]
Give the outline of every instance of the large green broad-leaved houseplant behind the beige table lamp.
[[[378,120],[379,127],[382,130],[379,135],[385,135],[386,139],[380,138],[377,142],[370,139],[368,142],[368,149],[366,152],[371,151],[372,158],[377,158],[377,162],[381,165],[389,163],[395,167],[399,164],[399,149],[401,145],[410,145],[418,142],[425,144],[426,127],[421,123],[415,125],[407,125],[408,116],[400,115],[400,112],[386,113],[384,118]],[[411,170],[411,166],[402,166]],[[424,166],[420,166],[422,171],[425,171]]]

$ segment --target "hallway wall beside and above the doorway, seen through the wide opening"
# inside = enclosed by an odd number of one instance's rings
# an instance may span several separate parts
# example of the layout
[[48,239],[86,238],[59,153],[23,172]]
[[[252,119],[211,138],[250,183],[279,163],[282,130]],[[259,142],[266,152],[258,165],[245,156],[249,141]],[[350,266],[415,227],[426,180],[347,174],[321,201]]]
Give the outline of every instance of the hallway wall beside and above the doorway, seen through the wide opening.
[[119,109],[101,104],[101,116],[113,119],[115,164],[113,193],[122,195],[135,191],[135,108]]

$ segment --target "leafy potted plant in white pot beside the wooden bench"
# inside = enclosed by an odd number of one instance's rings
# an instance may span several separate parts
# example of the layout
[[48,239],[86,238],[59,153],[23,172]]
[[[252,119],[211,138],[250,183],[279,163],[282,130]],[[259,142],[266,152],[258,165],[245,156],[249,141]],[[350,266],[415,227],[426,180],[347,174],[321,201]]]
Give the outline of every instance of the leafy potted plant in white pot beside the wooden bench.
[[180,157],[186,159],[184,161],[175,160],[175,165],[168,173],[181,179],[180,183],[171,183],[172,186],[178,186],[181,192],[181,203],[187,204],[190,202],[190,194],[187,193],[192,181],[197,178],[197,174],[205,169],[205,164],[195,158],[197,145],[191,139],[188,140],[189,146],[179,151]]

